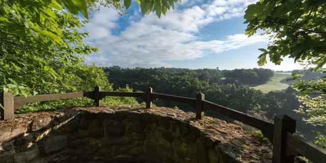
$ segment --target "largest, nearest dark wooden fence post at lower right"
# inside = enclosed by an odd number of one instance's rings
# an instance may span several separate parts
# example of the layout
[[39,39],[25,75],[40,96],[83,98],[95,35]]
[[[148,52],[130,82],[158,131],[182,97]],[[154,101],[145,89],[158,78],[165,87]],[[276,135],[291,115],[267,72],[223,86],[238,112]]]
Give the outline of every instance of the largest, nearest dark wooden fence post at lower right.
[[293,163],[294,156],[286,155],[286,132],[295,132],[295,120],[287,115],[274,117],[273,163]]

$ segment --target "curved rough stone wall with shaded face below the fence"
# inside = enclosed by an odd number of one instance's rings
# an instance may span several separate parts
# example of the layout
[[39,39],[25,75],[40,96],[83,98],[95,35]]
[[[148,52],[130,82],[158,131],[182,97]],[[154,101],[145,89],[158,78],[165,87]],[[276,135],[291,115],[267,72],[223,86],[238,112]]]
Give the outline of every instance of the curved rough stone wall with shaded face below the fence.
[[0,162],[271,162],[241,127],[171,108],[106,106],[0,122]]

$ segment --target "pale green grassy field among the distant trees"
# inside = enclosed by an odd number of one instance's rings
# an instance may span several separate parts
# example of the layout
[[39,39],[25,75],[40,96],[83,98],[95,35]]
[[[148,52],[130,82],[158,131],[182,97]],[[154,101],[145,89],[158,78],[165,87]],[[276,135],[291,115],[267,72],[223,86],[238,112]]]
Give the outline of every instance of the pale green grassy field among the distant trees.
[[274,77],[266,84],[252,86],[251,88],[261,90],[264,93],[268,93],[270,91],[284,90],[289,86],[289,83],[281,83],[281,80],[287,77],[291,77],[291,74],[275,73]]

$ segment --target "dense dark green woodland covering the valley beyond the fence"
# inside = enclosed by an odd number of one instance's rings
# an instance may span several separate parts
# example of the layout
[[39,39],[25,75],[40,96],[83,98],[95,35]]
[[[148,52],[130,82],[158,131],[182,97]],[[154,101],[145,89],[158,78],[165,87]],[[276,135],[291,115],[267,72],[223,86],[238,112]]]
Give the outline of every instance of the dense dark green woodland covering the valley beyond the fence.
[[[283,91],[262,93],[249,87],[249,84],[264,84],[273,71],[269,69],[181,69],[181,68],[103,68],[115,89],[128,85],[134,91],[146,91],[152,87],[156,93],[196,98],[198,92],[205,99],[237,111],[249,113],[259,118],[273,121],[274,115],[287,114],[297,120],[298,130],[308,139],[313,139],[315,129],[302,121],[303,115],[296,110],[300,103],[290,87]],[[189,106],[172,101],[158,100],[157,105],[179,107],[191,111]],[[218,116],[218,115],[215,115]]]

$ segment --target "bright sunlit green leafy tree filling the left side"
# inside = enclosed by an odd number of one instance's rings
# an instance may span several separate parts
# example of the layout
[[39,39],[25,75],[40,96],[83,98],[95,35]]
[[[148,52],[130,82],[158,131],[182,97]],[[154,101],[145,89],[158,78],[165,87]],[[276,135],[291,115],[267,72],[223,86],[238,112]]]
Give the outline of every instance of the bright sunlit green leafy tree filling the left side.
[[[99,6],[122,11],[131,0],[0,0],[0,89],[15,96],[76,91],[76,70],[83,56],[96,52],[77,31],[88,11]],[[157,16],[177,0],[138,1],[142,11]]]

